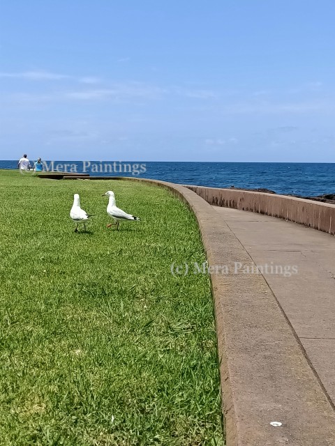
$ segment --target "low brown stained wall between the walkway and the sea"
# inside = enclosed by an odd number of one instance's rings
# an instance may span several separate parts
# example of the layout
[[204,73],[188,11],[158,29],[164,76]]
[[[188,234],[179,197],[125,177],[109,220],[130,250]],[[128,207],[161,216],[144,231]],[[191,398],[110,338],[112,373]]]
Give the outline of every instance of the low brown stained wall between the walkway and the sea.
[[214,206],[270,215],[335,235],[334,204],[264,192],[193,185],[186,187]]

